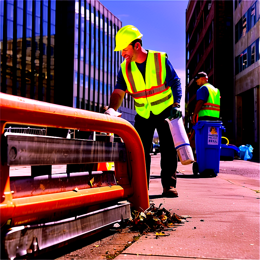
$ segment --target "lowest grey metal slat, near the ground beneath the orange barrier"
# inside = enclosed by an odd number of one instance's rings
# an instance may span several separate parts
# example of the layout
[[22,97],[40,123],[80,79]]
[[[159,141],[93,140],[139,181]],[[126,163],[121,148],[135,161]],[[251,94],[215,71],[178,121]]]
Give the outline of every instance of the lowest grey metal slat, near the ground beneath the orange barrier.
[[121,219],[130,218],[130,203],[107,207],[88,214],[46,224],[12,228],[5,236],[5,249],[9,259],[40,250],[58,247],[59,243],[88,236]]

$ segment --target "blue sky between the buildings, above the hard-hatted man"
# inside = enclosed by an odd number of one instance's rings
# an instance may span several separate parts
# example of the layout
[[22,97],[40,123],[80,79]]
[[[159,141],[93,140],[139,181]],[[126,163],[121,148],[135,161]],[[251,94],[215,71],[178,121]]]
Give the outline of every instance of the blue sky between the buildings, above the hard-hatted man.
[[184,112],[185,98],[185,12],[187,0],[101,0],[107,9],[122,21],[133,25],[143,34],[143,47],[168,54],[181,80]]

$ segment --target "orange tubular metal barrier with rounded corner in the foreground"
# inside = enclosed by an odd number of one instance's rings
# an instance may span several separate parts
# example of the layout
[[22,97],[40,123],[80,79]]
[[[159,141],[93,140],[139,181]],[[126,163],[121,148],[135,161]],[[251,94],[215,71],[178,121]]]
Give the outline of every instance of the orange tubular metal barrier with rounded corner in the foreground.
[[[36,208],[42,212],[51,212],[55,208],[69,205],[93,205],[116,198],[126,198],[132,210],[143,211],[149,207],[147,190],[145,156],[140,137],[134,127],[126,120],[101,113],[82,109],[40,102],[18,96],[0,94],[1,97],[1,226],[8,219],[16,219],[16,225],[23,224],[19,212],[28,212],[26,221],[30,222],[31,213]],[[79,193],[65,192],[55,195],[46,194],[39,198],[12,198],[10,190],[9,166],[5,160],[2,145],[3,132],[7,123],[29,124],[43,127],[78,129],[81,131],[97,131],[115,133],[122,138],[126,147],[127,163],[115,162],[116,186],[93,188]],[[130,179],[130,184],[129,184]],[[81,196],[79,196],[81,195]],[[66,199],[64,198],[66,197]],[[32,207],[34,207],[32,209]]]

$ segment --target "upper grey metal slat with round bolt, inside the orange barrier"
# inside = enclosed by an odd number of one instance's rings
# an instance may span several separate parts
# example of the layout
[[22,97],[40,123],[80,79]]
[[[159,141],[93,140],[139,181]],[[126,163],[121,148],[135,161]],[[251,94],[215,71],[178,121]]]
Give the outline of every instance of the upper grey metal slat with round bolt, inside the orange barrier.
[[47,136],[7,135],[8,165],[125,161],[125,144]]

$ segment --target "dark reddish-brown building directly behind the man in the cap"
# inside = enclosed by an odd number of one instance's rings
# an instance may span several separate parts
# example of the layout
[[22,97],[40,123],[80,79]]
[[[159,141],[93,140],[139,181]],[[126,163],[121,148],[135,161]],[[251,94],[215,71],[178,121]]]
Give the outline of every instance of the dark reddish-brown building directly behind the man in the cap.
[[196,73],[207,73],[208,82],[221,94],[220,117],[224,134],[234,140],[234,69],[232,1],[189,1],[186,9],[186,89],[185,127],[192,129],[191,118],[199,88]]

